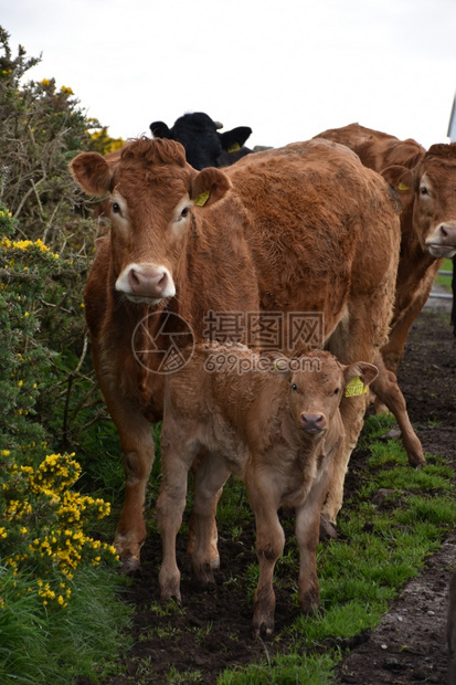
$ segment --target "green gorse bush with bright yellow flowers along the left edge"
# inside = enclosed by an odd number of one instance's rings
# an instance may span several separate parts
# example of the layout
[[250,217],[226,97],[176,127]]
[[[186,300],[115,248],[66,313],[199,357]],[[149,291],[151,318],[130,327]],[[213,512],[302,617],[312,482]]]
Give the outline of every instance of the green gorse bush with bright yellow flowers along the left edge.
[[36,303],[65,266],[41,240],[14,240],[14,228],[11,212],[0,205],[0,562],[17,577],[13,593],[23,591],[21,577],[26,592],[34,579],[44,605],[65,607],[67,581],[79,563],[115,558],[113,547],[88,535],[94,520],[109,514],[109,504],[71,489],[81,475],[74,454],[47,452],[36,405],[55,383],[59,352],[40,341]]

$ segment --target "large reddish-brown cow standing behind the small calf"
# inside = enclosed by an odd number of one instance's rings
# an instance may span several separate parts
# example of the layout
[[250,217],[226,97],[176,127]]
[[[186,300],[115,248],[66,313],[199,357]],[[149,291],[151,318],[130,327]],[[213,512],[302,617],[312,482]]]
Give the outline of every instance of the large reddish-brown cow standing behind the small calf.
[[[373,361],[388,339],[399,218],[385,181],[327,140],[197,171],[180,144],[145,138],[125,146],[114,167],[86,152],[72,170],[87,193],[109,194],[112,230],[97,242],[85,313],[124,454],[126,493],[115,545],[125,568],[134,569],[146,535],[149,422],[161,419],[163,404],[162,359],[155,352],[166,350],[167,362],[174,362],[185,330],[197,340],[223,341],[233,322],[232,340],[264,349],[269,328],[258,313],[272,313],[283,334],[275,347],[287,354],[303,348],[310,315],[321,334],[315,347],[325,345],[342,363]],[[218,313],[223,326],[213,324]],[[404,444],[416,461],[421,444],[395,379],[375,388],[403,418]],[[346,445],[326,504],[332,521],[364,410],[365,396],[342,400]]]

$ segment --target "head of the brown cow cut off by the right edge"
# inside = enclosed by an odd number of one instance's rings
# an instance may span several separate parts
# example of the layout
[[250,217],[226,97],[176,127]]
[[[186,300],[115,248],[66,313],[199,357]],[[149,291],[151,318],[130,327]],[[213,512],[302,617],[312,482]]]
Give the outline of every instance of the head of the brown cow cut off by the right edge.
[[433,145],[414,169],[388,167],[382,176],[404,207],[413,203],[413,228],[432,256],[456,254],[456,144]]

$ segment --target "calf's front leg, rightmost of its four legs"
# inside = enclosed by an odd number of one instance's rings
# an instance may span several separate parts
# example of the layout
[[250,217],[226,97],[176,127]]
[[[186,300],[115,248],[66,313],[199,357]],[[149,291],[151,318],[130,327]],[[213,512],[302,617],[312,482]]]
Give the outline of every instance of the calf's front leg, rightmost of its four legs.
[[317,577],[317,546],[320,512],[328,489],[329,472],[325,470],[314,483],[304,504],[296,509],[296,540],[299,549],[298,599],[304,613],[321,611]]

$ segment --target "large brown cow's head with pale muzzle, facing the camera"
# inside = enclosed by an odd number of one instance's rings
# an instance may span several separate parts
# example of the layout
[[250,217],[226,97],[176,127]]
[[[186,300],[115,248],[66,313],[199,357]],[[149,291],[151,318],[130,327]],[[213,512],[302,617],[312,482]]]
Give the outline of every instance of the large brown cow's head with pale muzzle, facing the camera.
[[220,200],[231,186],[227,177],[193,169],[179,143],[148,138],[127,144],[115,165],[83,152],[71,169],[86,193],[107,194],[116,291],[136,303],[173,297],[193,208],[203,211]]

